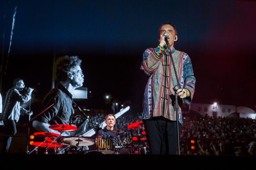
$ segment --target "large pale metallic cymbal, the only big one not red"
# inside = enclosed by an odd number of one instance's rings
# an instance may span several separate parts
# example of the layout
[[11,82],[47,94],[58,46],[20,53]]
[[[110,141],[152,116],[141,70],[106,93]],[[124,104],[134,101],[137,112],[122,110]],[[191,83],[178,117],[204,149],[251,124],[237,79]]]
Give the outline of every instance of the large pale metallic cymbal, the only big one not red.
[[62,142],[72,146],[90,146],[95,144],[94,140],[82,137],[65,138]]

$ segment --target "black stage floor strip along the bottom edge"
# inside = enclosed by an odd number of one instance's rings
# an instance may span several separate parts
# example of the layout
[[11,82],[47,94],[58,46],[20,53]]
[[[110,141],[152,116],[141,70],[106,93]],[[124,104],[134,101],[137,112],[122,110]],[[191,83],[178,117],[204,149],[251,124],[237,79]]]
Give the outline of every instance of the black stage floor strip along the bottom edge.
[[[0,154],[3,169],[250,169],[255,168],[256,157],[250,156],[199,156],[199,155],[107,155],[107,154]],[[8,162],[8,163],[7,163]],[[254,168],[253,168],[254,167]],[[2,169],[1,168],[1,169]]]

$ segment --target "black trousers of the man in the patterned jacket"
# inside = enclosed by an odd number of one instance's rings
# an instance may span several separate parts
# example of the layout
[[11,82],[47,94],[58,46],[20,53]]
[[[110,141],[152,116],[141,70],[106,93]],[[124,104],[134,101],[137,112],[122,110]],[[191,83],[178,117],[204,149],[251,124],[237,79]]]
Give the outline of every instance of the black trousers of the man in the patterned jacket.
[[144,119],[143,123],[150,154],[176,154],[178,148],[176,121],[160,116]]

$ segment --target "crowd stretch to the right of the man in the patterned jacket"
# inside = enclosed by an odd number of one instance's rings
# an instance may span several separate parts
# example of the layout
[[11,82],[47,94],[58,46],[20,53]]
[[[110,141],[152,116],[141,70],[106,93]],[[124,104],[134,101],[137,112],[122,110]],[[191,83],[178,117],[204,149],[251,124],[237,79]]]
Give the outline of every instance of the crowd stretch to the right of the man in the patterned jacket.
[[181,151],[189,155],[256,155],[255,126],[251,118],[184,117],[180,137],[195,139],[195,149],[190,148],[190,140],[182,140]]

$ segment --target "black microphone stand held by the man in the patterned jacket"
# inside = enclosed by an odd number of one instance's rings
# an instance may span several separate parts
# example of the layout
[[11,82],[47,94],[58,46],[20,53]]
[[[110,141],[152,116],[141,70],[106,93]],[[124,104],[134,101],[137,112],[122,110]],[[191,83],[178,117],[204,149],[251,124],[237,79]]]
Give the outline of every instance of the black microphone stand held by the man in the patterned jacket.
[[[175,72],[175,76],[176,76],[176,80],[177,80],[177,83],[178,85],[174,86],[174,91],[176,92],[178,89],[180,89],[180,81],[178,79],[178,74],[176,72],[176,68],[175,68],[175,65],[174,65],[174,62],[173,62],[173,58],[172,58],[172,50],[170,48],[170,44],[168,42],[168,37],[169,35],[166,34],[166,38],[165,38],[165,42],[167,44],[167,47],[168,49],[165,50],[166,51],[166,55],[170,56],[171,60],[172,60],[172,66],[173,66],[173,69],[174,69],[174,72]],[[184,99],[182,98],[182,103],[184,104]],[[178,95],[177,93],[175,93],[175,111],[176,111],[176,118],[177,118],[177,138],[178,138],[178,155],[180,155],[180,134],[179,134],[179,113],[178,113]]]

